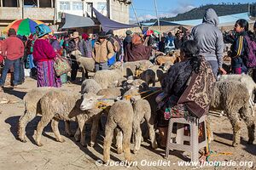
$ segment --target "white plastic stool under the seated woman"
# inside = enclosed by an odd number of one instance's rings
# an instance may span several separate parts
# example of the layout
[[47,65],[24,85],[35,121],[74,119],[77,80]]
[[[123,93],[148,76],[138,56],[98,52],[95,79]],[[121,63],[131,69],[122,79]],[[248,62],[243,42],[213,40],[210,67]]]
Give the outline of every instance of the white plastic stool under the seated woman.
[[[167,143],[166,143],[166,159],[169,156],[170,150],[183,150],[191,153],[191,161],[199,160],[199,150],[203,147],[207,147],[207,116],[201,116],[200,119],[195,119],[194,122],[186,120],[185,118],[171,118],[168,126]],[[172,141],[172,127],[173,123],[177,123],[177,136],[176,143]],[[204,140],[199,143],[198,125],[203,122]],[[184,135],[184,124],[189,124],[190,136]],[[183,144],[184,141],[189,141],[189,145]]]

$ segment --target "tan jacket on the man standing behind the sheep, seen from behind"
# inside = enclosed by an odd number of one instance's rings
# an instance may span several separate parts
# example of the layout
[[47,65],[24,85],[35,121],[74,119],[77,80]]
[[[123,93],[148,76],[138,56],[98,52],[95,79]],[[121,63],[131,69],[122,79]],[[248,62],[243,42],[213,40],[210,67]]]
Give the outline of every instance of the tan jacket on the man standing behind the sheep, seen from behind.
[[96,63],[105,63],[113,57],[113,45],[108,40],[104,42],[95,42],[92,57]]

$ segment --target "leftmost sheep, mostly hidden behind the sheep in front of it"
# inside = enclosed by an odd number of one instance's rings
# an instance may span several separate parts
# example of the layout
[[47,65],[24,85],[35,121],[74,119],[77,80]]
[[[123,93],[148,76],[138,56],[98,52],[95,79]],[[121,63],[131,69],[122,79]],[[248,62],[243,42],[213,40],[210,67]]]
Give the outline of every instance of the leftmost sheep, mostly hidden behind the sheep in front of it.
[[[25,111],[24,115],[20,116],[19,124],[18,124],[18,139],[21,142],[26,142],[25,138],[25,129],[26,124],[37,116],[37,114],[41,114],[41,108],[38,107],[38,101],[44,96],[44,94],[48,93],[52,90],[58,90],[59,88],[33,88],[31,91],[26,93],[23,98]],[[63,89],[61,89],[63,90]]]

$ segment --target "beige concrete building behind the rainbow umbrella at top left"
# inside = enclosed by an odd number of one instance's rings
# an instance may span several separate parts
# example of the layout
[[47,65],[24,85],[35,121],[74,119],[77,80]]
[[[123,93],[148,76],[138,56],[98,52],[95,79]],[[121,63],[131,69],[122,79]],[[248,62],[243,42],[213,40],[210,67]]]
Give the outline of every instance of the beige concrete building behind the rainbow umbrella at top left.
[[1,30],[14,20],[26,18],[54,24],[55,0],[0,0]]

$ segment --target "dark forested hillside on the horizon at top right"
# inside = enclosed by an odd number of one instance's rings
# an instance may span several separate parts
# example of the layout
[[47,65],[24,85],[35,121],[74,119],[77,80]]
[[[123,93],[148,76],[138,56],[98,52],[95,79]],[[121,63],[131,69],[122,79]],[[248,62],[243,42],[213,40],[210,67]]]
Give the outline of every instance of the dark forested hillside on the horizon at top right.
[[[221,4],[207,4],[203,5],[199,8],[193,8],[186,13],[177,14],[177,16],[172,18],[160,18],[161,20],[196,20],[202,19],[203,15],[207,8],[213,8],[218,16],[224,16],[229,14],[238,14],[238,13],[245,13],[248,11],[248,4],[247,3],[221,3]],[[153,22],[155,20],[148,20],[148,22]]]

